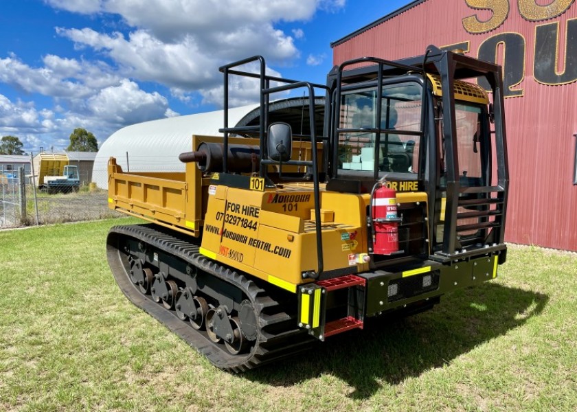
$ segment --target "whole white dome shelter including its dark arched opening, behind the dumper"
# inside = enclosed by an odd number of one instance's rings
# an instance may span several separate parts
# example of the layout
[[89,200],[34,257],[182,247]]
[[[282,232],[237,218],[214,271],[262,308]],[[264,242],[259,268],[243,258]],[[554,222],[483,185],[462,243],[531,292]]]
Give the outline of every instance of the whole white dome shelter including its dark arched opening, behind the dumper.
[[[229,108],[229,126],[253,126],[258,124],[258,104]],[[310,135],[308,100],[288,98],[271,102],[269,122],[291,124],[293,134]],[[315,100],[315,130],[320,136],[324,121],[324,98]],[[131,172],[184,172],[179,155],[190,152],[192,135],[221,136],[218,132],[224,124],[224,112],[212,111],[152,120],[126,126],[111,135],[96,155],[92,180],[102,189],[108,188],[106,165],[115,157],[122,170]]]

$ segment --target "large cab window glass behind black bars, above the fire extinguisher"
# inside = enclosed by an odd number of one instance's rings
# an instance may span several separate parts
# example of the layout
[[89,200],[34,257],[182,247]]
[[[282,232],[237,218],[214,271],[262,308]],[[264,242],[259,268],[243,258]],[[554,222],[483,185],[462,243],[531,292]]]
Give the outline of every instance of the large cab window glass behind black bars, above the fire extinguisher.
[[343,93],[340,127],[349,131],[339,135],[339,170],[417,173],[421,99],[418,83],[383,85],[378,119],[376,87]]

